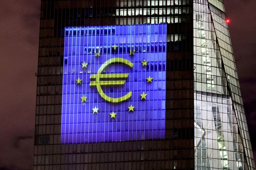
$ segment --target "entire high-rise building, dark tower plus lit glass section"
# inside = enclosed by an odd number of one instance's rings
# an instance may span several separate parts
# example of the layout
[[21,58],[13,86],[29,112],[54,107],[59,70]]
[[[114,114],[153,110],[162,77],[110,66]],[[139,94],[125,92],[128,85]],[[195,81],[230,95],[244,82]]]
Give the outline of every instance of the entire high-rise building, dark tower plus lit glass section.
[[33,168],[255,169],[223,0],[42,0]]

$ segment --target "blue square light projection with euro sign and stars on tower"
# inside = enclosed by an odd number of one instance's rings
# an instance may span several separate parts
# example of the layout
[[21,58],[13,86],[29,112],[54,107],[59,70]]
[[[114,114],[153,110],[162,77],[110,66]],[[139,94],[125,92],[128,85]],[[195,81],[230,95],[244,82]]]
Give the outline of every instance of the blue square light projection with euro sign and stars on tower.
[[166,24],[66,27],[61,143],[165,137]]

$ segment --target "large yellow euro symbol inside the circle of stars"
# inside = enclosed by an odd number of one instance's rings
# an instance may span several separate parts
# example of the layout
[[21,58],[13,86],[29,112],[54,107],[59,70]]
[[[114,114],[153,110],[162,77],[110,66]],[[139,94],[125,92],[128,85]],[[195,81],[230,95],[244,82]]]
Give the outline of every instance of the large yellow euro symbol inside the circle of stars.
[[132,91],[127,93],[125,96],[122,96],[119,98],[111,98],[102,91],[101,85],[114,85],[114,86],[124,85],[125,79],[129,75],[129,74],[101,74],[101,72],[105,69],[105,67],[107,67],[108,64],[111,64],[111,63],[123,63],[127,67],[129,66],[130,68],[132,68],[133,66],[133,63],[131,63],[129,60],[126,60],[124,58],[111,58],[100,66],[97,74],[92,74],[90,76],[90,79],[91,79],[90,86],[96,86],[100,96],[103,99],[112,103],[117,103],[117,102],[121,102],[129,99],[132,96]]

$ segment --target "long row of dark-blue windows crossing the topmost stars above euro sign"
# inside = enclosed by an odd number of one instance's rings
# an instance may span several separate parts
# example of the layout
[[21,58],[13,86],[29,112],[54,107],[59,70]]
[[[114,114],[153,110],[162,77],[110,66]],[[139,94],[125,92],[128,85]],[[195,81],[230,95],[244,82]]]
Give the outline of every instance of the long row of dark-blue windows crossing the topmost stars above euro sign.
[[162,52],[165,51],[165,44],[152,44],[152,45],[123,45],[118,46],[116,49],[114,46],[106,47],[84,47],[84,54],[110,54],[110,53],[130,53],[131,51],[139,52]]

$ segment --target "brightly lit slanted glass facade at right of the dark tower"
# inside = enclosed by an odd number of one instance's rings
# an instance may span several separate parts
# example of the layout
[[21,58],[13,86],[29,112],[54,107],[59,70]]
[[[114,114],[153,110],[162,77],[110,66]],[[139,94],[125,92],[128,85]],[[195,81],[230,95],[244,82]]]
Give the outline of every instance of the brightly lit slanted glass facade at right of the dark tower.
[[223,1],[193,12],[195,169],[255,169]]

